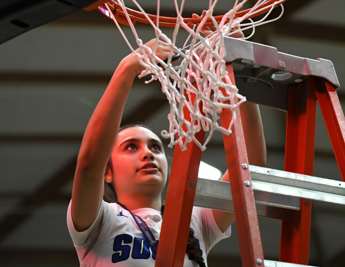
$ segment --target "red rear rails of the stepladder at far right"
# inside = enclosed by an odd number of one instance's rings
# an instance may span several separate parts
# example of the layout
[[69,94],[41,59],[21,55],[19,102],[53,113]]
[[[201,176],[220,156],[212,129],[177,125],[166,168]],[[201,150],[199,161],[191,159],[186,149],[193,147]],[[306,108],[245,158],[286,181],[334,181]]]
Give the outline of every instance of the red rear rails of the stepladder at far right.
[[[307,103],[300,107],[298,98],[305,88]],[[344,114],[334,86],[319,77],[309,76],[307,84],[289,87],[284,170],[313,175],[316,100],[345,181]],[[289,221],[282,221],[279,260],[308,265],[312,201],[301,199],[300,207],[291,210]]]

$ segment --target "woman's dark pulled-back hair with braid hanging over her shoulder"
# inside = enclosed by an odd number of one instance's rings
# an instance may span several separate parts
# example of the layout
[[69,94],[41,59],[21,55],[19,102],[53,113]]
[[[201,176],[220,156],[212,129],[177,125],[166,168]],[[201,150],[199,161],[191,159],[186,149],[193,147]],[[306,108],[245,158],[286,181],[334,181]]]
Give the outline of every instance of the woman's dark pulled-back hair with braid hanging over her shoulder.
[[[126,128],[129,128],[129,127],[138,127],[138,126],[144,127],[144,128],[146,128],[152,132],[152,130],[149,127],[142,125],[142,124],[128,124],[128,125],[122,126],[119,128],[119,132],[126,129]],[[112,164],[111,164],[110,159],[107,163],[104,176],[109,175],[109,174],[111,174],[111,176],[113,176]],[[168,175],[168,177],[169,177],[169,175]],[[167,181],[167,184],[165,185],[165,188],[162,191],[162,194],[160,196],[161,200],[162,200],[162,208],[163,209],[164,209],[165,197],[166,197],[166,193],[167,193],[168,181]],[[117,203],[118,202],[114,186],[111,183],[108,183],[106,181],[104,181],[103,200],[108,202],[108,203]],[[189,227],[186,253],[188,254],[188,258],[190,260],[195,260],[195,262],[197,264],[199,264],[200,267],[206,267],[206,264],[205,264],[204,258],[203,258],[203,251],[200,249],[199,245],[196,242],[196,239],[194,237],[194,230],[191,229],[190,227]]]

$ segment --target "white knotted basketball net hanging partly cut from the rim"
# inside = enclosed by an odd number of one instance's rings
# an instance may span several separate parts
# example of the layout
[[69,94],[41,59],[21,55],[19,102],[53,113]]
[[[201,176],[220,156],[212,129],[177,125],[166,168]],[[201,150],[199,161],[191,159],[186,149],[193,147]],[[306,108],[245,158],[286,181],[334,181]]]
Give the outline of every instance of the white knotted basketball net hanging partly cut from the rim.
[[[237,87],[231,82],[225,70],[226,62],[224,58],[226,51],[224,48],[224,37],[231,37],[231,35],[239,31],[252,28],[252,34],[244,38],[247,39],[254,34],[255,26],[279,19],[284,10],[281,5],[282,13],[280,16],[273,20],[265,21],[274,6],[284,2],[284,0],[276,1],[268,6],[270,9],[263,19],[253,21],[249,17],[256,13],[260,13],[263,9],[262,5],[268,1],[259,0],[247,14],[234,19],[235,13],[242,8],[246,1],[247,0],[244,0],[238,3],[238,0],[236,0],[234,7],[225,13],[221,22],[218,24],[212,15],[217,0],[210,0],[205,17],[201,20],[199,25],[194,25],[191,29],[190,25],[185,23],[181,16],[185,0],[182,0],[180,6],[178,6],[177,0],[174,0],[177,20],[172,39],[170,39],[159,29],[159,0],[157,1],[157,19],[155,23],[149,18],[140,5],[135,0],[132,0],[155,30],[157,39],[153,49],[145,46],[139,38],[134,23],[126,10],[124,1],[113,1],[118,3],[125,13],[142,55],[136,53],[135,49],[128,42],[124,32],[121,30],[119,22],[116,20],[116,16],[111,11],[114,10],[114,8],[111,8],[111,2],[105,3],[107,10],[100,7],[103,13],[114,20],[131,51],[136,54],[140,64],[145,66],[146,69],[142,71],[139,78],[152,74],[152,78],[146,81],[146,83],[156,79],[161,83],[162,92],[166,94],[170,104],[170,113],[168,115],[170,124],[169,131],[161,131],[161,135],[164,138],[170,138],[168,147],[171,148],[179,144],[181,149],[185,150],[187,143],[194,141],[195,144],[204,151],[215,130],[227,135],[231,133],[231,127],[236,119],[234,111],[246,100],[246,98],[238,93]],[[201,29],[208,18],[213,21],[216,31],[204,37],[202,36]],[[249,19],[250,22],[243,23],[246,19]],[[234,28],[238,26],[240,26],[241,29],[234,31]],[[179,49],[175,45],[180,28],[189,33],[189,37],[182,49]],[[171,48],[167,63],[155,55],[159,38],[168,43]],[[187,47],[189,40],[190,45]],[[171,64],[171,58],[174,56],[173,52],[183,57],[179,66],[172,66]],[[225,94],[223,94],[219,88],[224,88]],[[185,109],[188,110],[188,114],[185,114]],[[233,114],[228,129],[218,124],[219,113],[221,113],[223,109],[230,109]],[[209,132],[204,144],[201,144],[194,136],[195,133],[199,132],[201,129],[205,132]]]

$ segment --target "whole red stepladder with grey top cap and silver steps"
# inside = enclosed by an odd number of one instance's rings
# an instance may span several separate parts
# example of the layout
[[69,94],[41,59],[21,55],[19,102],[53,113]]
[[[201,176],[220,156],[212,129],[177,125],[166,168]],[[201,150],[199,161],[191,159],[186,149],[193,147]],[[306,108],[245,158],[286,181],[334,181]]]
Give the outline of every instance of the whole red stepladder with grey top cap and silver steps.
[[[336,93],[339,84],[333,64],[231,37],[225,37],[224,43],[228,75],[233,82],[236,77],[240,93],[251,102],[287,111],[285,170],[248,165],[239,110],[233,133],[223,134],[226,162],[232,174],[231,193],[229,183],[225,187],[222,181],[197,178],[201,150],[196,144],[189,143],[186,151],[176,146],[155,266],[183,266],[194,204],[235,211],[243,266],[307,265],[311,199],[345,204],[344,182],[312,176],[318,101],[345,181],[345,119]],[[225,128],[230,123],[229,113],[225,109],[220,113]],[[200,143],[204,137],[203,131],[196,134]],[[220,189],[214,193],[210,185]],[[270,194],[271,199],[271,203],[264,203],[264,209],[259,200],[262,193]],[[215,201],[219,199],[223,202]],[[282,202],[289,208],[281,208]],[[264,260],[257,214],[282,219],[280,262]]]

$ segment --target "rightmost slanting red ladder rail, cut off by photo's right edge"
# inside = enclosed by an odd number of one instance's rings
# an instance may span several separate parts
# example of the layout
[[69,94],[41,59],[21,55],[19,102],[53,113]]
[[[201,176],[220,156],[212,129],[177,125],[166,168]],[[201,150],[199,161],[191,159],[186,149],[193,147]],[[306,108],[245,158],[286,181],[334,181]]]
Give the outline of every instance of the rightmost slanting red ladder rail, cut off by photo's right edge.
[[317,100],[326,124],[340,174],[345,181],[345,118],[337,92],[327,80],[312,77]]

